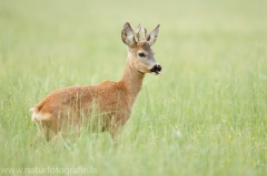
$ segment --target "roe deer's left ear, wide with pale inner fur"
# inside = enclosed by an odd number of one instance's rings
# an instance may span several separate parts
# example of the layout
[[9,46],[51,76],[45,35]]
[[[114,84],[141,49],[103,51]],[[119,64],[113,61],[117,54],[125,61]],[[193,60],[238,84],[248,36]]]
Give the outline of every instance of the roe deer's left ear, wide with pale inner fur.
[[121,40],[123,43],[126,43],[128,46],[135,46],[136,45],[136,40],[135,40],[135,32],[131,29],[129,22],[127,22],[123,25],[123,29],[121,31]]

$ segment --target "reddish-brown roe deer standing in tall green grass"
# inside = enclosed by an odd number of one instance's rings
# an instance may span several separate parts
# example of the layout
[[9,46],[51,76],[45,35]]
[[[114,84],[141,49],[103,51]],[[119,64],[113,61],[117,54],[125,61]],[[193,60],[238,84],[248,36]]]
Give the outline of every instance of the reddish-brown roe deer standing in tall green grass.
[[[141,90],[145,73],[161,74],[151,45],[155,43],[159,25],[147,34],[140,24],[134,30],[126,23],[121,40],[128,48],[125,73],[119,82],[102,82],[91,86],[69,86],[52,91],[39,104],[31,107],[32,121],[39,128],[39,135],[49,139],[49,132],[57,138],[66,124],[80,127],[82,115],[90,120],[92,108],[97,107],[101,120],[101,131],[109,131],[112,138],[130,117],[132,105]],[[142,33],[142,34],[140,34]]]

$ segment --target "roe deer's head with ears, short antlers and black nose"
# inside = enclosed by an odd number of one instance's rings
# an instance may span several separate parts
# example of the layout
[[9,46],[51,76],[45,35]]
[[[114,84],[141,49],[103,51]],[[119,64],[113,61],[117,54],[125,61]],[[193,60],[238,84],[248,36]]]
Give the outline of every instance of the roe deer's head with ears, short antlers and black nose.
[[161,66],[155,60],[154,51],[151,50],[158,31],[159,25],[149,34],[140,24],[137,27],[137,30],[134,30],[128,22],[123,25],[121,40],[128,45],[128,59],[132,69],[138,72],[161,74]]

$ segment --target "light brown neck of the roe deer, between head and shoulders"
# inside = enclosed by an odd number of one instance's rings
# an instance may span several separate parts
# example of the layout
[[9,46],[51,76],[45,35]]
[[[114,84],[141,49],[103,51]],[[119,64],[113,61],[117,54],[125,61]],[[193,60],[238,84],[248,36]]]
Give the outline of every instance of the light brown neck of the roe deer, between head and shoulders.
[[145,73],[138,72],[130,60],[127,60],[125,74],[120,84],[125,87],[129,105],[132,106],[142,86]]

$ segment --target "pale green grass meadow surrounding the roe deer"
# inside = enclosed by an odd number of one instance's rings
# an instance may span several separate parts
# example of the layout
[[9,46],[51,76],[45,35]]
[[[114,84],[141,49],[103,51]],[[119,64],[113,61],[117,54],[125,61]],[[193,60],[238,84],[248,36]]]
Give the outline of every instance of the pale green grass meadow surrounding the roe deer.
[[[1,169],[266,175],[266,7],[264,0],[2,0]],[[83,133],[75,142],[42,139],[30,147],[37,128],[28,110],[49,92],[122,76],[120,31],[127,21],[149,31],[161,24],[154,51],[164,75],[145,77],[118,146],[108,133],[97,139]]]

